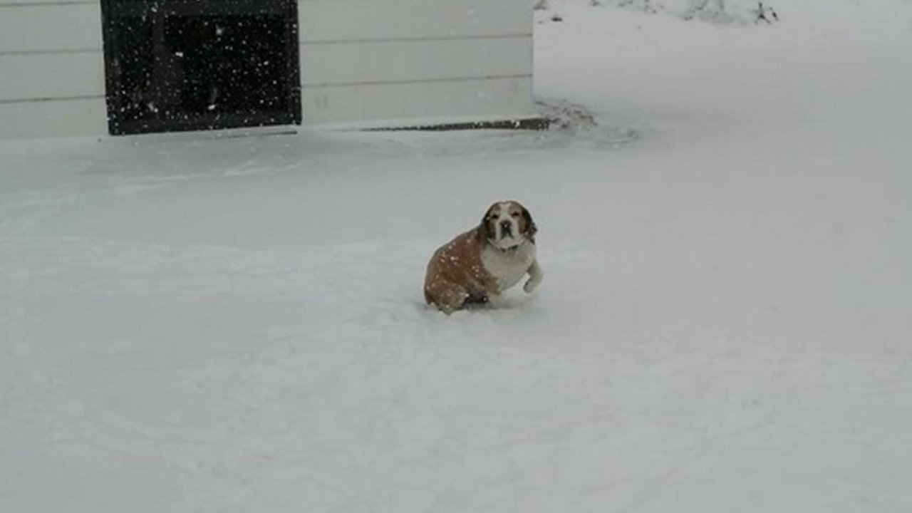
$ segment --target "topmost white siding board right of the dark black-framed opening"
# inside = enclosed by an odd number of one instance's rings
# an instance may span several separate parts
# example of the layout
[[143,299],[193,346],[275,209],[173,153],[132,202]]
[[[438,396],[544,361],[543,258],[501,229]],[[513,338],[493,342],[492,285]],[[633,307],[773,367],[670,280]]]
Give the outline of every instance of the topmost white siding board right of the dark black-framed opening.
[[300,0],[301,39],[358,41],[532,34],[529,0]]

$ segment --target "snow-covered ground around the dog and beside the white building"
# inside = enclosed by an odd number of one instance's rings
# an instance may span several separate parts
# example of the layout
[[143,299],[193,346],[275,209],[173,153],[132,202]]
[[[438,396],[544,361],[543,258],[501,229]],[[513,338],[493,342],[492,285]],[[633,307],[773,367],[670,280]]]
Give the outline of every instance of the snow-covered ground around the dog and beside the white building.
[[[603,4],[597,129],[0,143],[0,510],[912,510],[912,3]],[[542,288],[426,308],[503,198]]]

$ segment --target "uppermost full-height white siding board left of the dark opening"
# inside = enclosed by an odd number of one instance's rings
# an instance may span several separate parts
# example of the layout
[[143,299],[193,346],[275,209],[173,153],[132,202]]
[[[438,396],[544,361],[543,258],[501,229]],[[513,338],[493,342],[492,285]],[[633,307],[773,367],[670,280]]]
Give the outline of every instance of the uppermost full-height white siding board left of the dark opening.
[[0,6],[0,54],[101,49],[101,3]]

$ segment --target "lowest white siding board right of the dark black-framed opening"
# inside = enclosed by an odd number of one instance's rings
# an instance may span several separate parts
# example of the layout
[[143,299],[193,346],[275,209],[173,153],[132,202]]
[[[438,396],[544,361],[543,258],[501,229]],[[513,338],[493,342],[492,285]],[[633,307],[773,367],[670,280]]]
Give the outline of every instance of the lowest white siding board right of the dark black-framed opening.
[[532,78],[305,88],[304,124],[534,113]]

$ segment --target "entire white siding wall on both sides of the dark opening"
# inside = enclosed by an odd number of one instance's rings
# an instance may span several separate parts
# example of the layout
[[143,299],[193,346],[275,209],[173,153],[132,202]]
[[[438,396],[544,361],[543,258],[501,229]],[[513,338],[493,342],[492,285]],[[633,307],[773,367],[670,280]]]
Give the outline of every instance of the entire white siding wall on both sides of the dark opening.
[[[304,123],[533,113],[530,0],[299,0]],[[98,0],[0,0],[0,138],[103,135]]]

